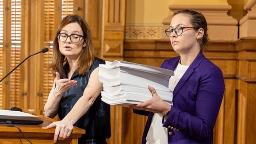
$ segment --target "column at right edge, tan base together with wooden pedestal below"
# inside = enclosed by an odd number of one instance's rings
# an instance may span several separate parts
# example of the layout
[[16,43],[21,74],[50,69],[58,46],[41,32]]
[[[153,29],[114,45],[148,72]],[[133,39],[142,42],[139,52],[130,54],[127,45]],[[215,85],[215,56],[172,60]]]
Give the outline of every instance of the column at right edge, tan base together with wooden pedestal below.
[[247,15],[240,20],[238,51],[237,143],[254,143],[256,133],[256,1],[245,6]]

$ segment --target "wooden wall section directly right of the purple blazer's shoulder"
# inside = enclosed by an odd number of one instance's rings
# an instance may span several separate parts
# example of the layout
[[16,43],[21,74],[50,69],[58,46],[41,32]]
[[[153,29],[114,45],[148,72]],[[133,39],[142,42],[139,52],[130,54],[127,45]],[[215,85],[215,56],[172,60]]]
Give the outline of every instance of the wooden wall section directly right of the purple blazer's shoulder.
[[214,143],[234,143],[236,138],[236,88],[238,53],[234,41],[212,40],[203,52],[221,68],[225,92],[214,128]]

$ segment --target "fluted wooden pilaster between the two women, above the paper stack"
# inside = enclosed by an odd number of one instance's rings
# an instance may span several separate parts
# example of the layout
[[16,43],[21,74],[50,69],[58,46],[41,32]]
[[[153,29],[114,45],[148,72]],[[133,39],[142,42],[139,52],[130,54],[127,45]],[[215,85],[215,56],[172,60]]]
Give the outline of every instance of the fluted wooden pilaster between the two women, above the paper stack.
[[104,1],[103,58],[123,59],[125,0]]

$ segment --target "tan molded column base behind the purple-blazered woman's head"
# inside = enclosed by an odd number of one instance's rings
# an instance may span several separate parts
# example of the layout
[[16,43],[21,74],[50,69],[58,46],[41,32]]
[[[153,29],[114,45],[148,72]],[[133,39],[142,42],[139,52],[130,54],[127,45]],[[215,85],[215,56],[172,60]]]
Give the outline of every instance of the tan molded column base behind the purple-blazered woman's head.
[[[211,40],[237,40],[238,20],[227,14],[231,9],[230,5],[170,5],[173,12],[190,9],[202,13],[208,25],[208,36]],[[162,30],[169,27],[172,15],[164,18]],[[164,36],[164,35],[162,35]]]

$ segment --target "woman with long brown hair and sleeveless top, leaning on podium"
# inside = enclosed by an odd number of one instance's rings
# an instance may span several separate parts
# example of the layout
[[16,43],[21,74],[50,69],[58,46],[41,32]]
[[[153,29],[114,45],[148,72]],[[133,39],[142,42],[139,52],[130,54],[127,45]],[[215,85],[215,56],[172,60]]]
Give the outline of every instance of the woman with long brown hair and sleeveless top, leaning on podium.
[[78,143],[106,143],[111,136],[110,106],[101,101],[102,83],[99,64],[94,56],[88,24],[78,15],[64,17],[57,29],[53,47],[52,73],[55,77],[45,105],[45,115],[60,121],[54,142],[68,138],[73,126],[86,129]]

